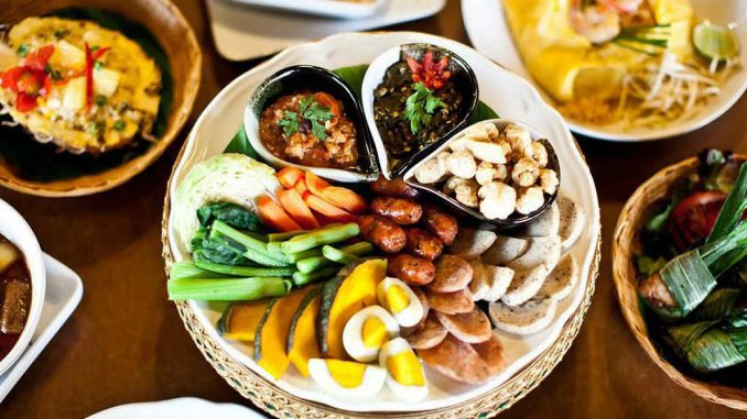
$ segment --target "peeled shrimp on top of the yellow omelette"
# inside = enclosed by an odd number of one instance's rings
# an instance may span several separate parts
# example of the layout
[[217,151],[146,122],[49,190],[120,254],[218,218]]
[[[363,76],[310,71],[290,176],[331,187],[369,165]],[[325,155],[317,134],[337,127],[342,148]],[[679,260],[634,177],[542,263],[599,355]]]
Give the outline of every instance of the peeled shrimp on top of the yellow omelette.
[[620,33],[620,15],[608,2],[584,4],[583,0],[572,0],[569,18],[571,26],[593,44],[611,41]]

